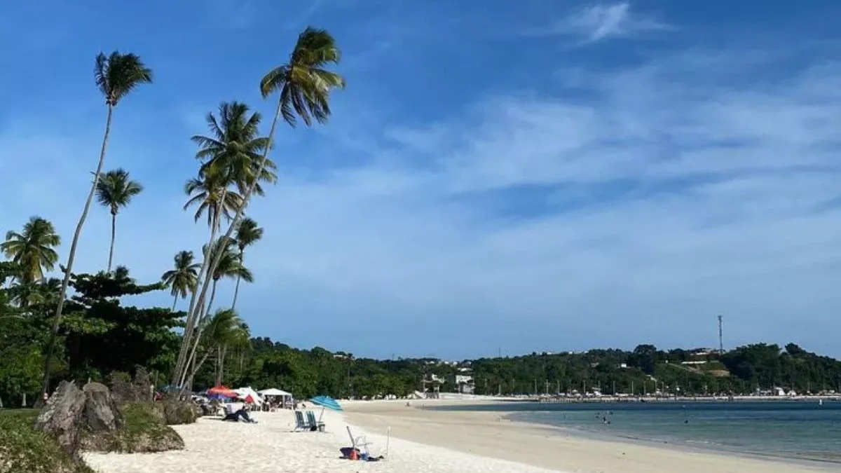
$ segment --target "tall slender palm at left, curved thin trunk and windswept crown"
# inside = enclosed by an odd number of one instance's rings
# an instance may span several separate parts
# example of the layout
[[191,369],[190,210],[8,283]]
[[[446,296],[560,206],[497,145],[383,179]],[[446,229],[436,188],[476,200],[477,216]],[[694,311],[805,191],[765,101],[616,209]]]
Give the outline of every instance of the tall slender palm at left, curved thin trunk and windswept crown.
[[96,66],[93,69],[93,79],[103,93],[105,105],[108,107],[108,116],[105,119],[105,134],[103,136],[102,148],[99,151],[99,162],[97,170],[93,173],[93,184],[91,191],[87,194],[82,215],[76,225],[76,232],[73,233],[73,241],[70,244],[70,252],[67,255],[67,264],[64,272],[64,279],[61,280],[61,293],[56,305],[56,316],[53,320],[50,341],[47,343],[46,356],[44,357],[44,392],[50,389],[50,360],[52,359],[53,344],[56,342],[58,327],[61,323],[61,310],[64,308],[64,299],[67,295],[67,284],[70,283],[70,275],[73,271],[73,261],[76,259],[76,247],[79,244],[79,237],[82,236],[82,227],[85,226],[87,212],[91,209],[93,194],[96,192],[99,183],[99,174],[102,173],[105,163],[105,151],[108,149],[108,136],[111,134],[111,118],[114,114],[114,107],[119,104],[126,95],[144,83],[152,82],[151,69],[140,61],[135,54],[121,54],[114,51],[109,56],[99,53]]

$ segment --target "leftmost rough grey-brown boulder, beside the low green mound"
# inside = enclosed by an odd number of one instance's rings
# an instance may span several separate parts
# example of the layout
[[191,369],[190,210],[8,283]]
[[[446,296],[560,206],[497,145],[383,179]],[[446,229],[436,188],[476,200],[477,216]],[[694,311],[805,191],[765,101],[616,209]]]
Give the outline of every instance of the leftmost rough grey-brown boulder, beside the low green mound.
[[52,435],[61,449],[76,456],[84,411],[85,393],[72,381],[61,381],[35,420],[35,428]]

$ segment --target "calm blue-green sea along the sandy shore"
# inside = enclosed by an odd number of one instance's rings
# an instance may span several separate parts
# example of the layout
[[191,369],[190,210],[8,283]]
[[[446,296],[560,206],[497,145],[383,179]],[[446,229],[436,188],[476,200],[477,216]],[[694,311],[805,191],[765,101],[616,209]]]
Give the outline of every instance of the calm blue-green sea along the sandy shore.
[[511,420],[600,437],[841,463],[841,401],[511,402],[442,408],[508,412]]

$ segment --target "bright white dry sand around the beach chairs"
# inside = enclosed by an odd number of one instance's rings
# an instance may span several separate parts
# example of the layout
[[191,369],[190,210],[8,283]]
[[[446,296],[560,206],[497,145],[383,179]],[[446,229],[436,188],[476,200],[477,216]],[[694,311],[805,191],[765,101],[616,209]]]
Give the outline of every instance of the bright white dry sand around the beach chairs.
[[[294,415],[286,412],[256,412],[259,423],[227,423],[202,418],[198,423],[175,426],[186,449],[160,454],[85,454],[87,464],[100,473],[207,473],[230,470],[237,473],[546,473],[532,466],[504,460],[484,459],[438,447],[426,447],[391,439],[389,458],[379,462],[341,460],[339,449],[350,446],[346,423],[340,414],[325,412],[327,433],[291,432]],[[353,428],[355,436],[365,434]],[[384,454],[386,438],[367,434],[371,453]]]

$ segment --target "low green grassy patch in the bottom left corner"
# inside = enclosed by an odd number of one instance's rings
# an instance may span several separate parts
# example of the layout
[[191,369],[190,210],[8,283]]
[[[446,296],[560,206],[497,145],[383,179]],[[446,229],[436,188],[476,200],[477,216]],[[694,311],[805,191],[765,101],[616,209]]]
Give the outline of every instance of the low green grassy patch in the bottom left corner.
[[0,410],[0,473],[94,473],[35,430],[35,409]]

